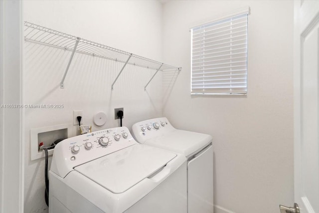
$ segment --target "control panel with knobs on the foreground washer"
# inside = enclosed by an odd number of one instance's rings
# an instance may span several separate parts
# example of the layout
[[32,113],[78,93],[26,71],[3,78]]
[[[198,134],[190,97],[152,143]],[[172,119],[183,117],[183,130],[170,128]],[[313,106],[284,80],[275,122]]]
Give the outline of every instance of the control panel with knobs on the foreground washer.
[[54,148],[51,171],[64,178],[74,167],[138,144],[127,127],[99,130],[75,136]]

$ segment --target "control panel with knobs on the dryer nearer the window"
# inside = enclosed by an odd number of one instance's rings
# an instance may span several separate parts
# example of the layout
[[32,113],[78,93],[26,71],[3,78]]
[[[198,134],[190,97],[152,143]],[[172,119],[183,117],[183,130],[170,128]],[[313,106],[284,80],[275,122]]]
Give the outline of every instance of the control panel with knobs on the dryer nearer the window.
[[169,134],[174,130],[176,129],[164,117],[141,121],[132,126],[132,134],[141,144],[149,139]]

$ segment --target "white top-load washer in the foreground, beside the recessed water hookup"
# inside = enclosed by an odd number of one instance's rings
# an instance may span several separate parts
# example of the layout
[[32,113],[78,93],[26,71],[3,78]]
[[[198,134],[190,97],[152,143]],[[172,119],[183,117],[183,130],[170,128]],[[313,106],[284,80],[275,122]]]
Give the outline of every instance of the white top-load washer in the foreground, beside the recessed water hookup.
[[49,171],[49,213],[185,213],[186,158],[126,127],[65,139]]

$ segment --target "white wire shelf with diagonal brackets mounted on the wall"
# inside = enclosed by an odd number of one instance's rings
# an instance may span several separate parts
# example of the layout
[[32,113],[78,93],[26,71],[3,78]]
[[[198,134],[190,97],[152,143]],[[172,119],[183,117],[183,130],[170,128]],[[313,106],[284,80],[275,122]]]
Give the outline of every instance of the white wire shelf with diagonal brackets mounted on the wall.
[[[72,51],[71,58],[65,70],[63,79],[60,83],[61,88],[64,87],[64,78],[67,74],[68,68],[70,66],[75,52],[125,63],[119,75],[121,74],[121,72],[127,64],[140,66],[148,69],[154,69],[157,70],[157,72],[159,70],[164,71],[167,69],[178,71],[181,70],[181,67],[175,67],[168,64],[164,64],[159,61],[155,61],[107,45],[99,44],[74,35],[59,32],[27,21],[24,21],[24,26],[24,39],[26,41]],[[117,76],[117,78],[119,77],[119,75]],[[117,80],[117,78],[115,79],[115,81]],[[112,89],[114,83],[112,84]]]

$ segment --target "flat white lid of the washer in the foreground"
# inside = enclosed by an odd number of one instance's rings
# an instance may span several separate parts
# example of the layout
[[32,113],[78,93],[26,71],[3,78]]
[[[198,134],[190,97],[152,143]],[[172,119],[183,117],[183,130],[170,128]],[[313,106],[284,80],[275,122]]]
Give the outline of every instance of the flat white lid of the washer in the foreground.
[[74,169],[107,190],[119,194],[151,176],[176,156],[166,150],[136,144]]

